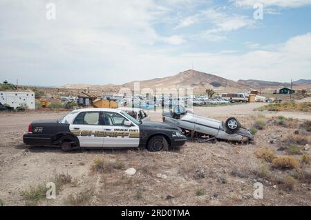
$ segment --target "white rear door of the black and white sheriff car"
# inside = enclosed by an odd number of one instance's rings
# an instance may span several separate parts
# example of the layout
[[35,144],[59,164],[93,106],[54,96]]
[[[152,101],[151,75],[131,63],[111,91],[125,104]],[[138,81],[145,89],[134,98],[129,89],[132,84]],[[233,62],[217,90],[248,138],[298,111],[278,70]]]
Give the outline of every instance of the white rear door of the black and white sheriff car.
[[79,139],[81,147],[103,147],[104,126],[102,112],[80,112],[69,128],[70,132]]

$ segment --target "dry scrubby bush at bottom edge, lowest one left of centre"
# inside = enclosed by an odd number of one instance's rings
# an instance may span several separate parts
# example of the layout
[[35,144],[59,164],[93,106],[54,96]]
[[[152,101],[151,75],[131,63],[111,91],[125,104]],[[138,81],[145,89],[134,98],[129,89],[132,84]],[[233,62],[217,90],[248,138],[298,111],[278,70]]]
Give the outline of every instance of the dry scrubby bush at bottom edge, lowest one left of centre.
[[70,194],[66,198],[65,203],[68,206],[88,206],[94,192],[94,188],[89,188],[75,195]]

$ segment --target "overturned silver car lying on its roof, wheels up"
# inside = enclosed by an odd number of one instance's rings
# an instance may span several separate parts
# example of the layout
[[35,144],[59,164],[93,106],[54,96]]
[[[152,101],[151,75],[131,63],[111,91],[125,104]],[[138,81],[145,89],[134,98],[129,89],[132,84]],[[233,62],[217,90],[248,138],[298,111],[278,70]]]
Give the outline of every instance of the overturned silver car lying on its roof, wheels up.
[[253,141],[254,135],[234,117],[225,122],[201,117],[190,111],[162,113],[162,120],[182,129],[188,139],[222,139],[227,141]]

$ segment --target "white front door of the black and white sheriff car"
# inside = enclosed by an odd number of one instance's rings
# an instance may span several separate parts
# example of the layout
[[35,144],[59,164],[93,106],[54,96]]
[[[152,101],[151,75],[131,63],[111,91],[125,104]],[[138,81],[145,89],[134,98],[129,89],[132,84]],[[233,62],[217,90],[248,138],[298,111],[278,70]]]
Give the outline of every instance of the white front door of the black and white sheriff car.
[[140,143],[140,129],[135,123],[125,126],[129,121],[117,112],[103,112],[104,148],[135,148]]

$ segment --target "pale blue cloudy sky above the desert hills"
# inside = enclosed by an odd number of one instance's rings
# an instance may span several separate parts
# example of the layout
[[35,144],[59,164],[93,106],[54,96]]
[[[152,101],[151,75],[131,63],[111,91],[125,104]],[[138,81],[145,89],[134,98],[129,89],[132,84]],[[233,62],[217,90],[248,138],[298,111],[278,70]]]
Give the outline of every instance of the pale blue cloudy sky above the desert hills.
[[0,81],[121,84],[192,65],[234,80],[310,79],[310,21],[311,0],[0,0]]

